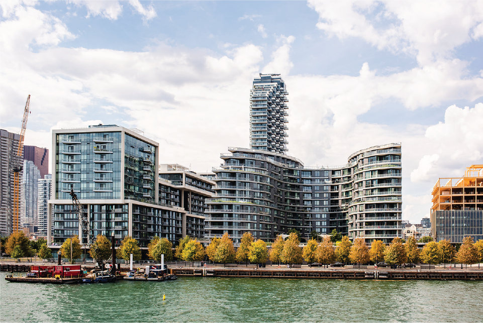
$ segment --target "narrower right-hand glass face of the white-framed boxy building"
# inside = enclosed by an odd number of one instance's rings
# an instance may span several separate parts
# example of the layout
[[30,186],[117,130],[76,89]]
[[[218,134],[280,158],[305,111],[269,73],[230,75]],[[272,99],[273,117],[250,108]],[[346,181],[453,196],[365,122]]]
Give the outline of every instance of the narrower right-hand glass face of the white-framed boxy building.
[[124,198],[154,201],[156,147],[125,134]]

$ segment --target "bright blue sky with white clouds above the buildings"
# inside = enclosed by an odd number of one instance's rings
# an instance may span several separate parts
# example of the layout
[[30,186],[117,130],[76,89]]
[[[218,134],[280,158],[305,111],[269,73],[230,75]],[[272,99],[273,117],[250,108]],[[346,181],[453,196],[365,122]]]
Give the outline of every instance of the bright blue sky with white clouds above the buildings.
[[249,147],[249,91],[280,73],[306,166],[402,144],[403,219],[483,164],[483,0],[0,0],[0,128],[137,128],[197,172]]

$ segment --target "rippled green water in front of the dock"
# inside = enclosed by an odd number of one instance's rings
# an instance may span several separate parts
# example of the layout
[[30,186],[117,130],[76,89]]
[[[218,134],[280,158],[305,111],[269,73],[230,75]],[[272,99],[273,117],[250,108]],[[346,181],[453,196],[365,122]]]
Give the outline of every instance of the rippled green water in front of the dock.
[[0,322],[483,322],[483,281],[180,277],[43,285],[10,283],[5,274]]

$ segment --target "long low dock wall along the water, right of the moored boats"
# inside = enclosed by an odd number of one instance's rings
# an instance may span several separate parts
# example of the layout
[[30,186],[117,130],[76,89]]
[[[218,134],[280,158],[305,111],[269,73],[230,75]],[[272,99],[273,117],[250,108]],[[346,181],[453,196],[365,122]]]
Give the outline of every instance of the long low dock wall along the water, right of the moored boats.
[[269,269],[269,268],[172,268],[176,276],[199,277],[252,277],[252,278],[297,278],[297,279],[454,279],[483,280],[483,270],[367,270],[367,269]]

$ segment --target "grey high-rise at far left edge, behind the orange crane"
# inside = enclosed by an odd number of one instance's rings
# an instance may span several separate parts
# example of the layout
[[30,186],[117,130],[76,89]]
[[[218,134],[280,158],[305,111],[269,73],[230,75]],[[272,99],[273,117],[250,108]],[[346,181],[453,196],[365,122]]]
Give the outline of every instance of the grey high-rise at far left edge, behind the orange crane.
[[[0,129],[0,235],[12,233],[14,175],[12,155],[17,153],[20,136]],[[23,161],[23,156],[20,162]]]

